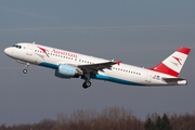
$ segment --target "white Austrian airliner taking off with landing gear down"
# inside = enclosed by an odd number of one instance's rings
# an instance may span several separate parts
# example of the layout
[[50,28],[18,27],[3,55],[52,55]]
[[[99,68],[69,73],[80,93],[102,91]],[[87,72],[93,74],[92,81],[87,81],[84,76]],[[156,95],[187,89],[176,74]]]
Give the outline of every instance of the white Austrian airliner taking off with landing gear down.
[[187,81],[179,74],[191,49],[180,48],[153,68],[127,65],[114,60],[108,61],[80,53],[37,44],[21,42],[4,49],[4,53],[26,65],[39,65],[55,70],[55,76],[63,79],[81,78],[84,89],[91,86],[91,79],[100,79],[130,86],[184,86]]

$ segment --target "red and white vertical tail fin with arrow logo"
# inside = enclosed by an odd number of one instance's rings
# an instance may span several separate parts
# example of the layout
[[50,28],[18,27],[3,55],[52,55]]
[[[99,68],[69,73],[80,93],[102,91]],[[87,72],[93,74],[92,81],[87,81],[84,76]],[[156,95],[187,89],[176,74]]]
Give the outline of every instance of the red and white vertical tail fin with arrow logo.
[[186,57],[188,56],[190,51],[191,49],[180,48],[156,67],[151,68],[151,70],[178,77],[185,63]]

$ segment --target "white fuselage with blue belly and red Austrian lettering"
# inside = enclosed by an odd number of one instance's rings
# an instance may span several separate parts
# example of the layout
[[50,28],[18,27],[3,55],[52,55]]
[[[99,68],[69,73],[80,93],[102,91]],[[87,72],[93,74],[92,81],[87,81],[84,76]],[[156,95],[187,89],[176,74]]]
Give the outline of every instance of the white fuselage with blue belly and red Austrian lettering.
[[[109,62],[107,60],[83,55],[75,52],[50,48],[35,43],[17,43],[18,48],[10,47],[4,50],[5,54],[21,63],[30,63],[53,69],[57,69],[60,64],[77,67],[78,65],[89,65]],[[110,69],[99,70],[96,75],[91,74],[90,78],[108,80],[118,83],[133,86],[172,86],[181,82],[166,82],[164,77],[174,78],[158,72],[153,72],[142,67],[127,64],[115,64]],[[182,84],[182,83],[181,83]]]

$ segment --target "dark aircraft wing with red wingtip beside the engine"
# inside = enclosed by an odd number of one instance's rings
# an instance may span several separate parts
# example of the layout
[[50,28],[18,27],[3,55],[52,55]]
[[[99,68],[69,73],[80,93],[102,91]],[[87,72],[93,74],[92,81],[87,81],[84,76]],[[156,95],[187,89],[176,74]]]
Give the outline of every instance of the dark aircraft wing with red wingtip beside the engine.
[[82,69],[86,73],[94,73],[96,74],[99,70],[104,72],[103,69],[107,68],[110,69],[112,65],[120,64],[119,62],[105,62],[105,63],[99,63],[99,64],[89,64],[89,65],[78,65],[80,69]]

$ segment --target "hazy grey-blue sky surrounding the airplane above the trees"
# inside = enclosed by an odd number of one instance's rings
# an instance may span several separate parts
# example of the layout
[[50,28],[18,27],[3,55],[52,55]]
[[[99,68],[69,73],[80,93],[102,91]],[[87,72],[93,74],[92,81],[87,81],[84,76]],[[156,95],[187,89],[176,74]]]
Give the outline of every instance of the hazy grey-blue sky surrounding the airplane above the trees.
[[[195,109],[194,0],[4,0],[0,1],[0,125],[56,119],[57,113],[132,109],[141,119],[150,113],[193,113]],[[34,42],[141,67],[154,67],[180,47],[191,48],[179,77],[183,87],[132,87],[81,79],[60,79],[54,70],[25,65],[3,50]]]

